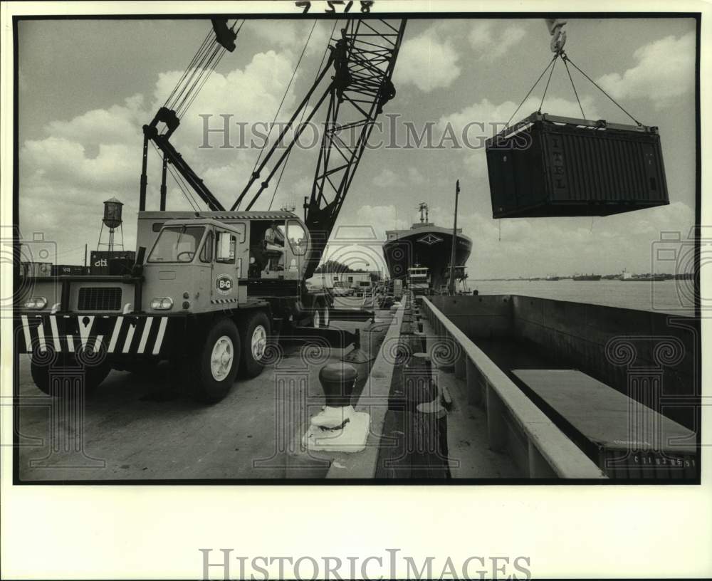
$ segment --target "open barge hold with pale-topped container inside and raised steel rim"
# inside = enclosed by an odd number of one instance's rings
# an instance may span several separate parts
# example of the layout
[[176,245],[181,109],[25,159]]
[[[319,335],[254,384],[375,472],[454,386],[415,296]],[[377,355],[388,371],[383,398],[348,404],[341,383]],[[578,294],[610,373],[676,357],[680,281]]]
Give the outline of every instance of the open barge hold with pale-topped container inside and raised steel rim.
[[510,408],[497,419],[505,390],[545,414],[608,478],[698,481],[698,412],[681,404],[698,398],[698,320],[518,295],[422,304],[456,353],[468,397],[494,423],[490,447],[522,471],[531,470],[533,444],[520,414]]

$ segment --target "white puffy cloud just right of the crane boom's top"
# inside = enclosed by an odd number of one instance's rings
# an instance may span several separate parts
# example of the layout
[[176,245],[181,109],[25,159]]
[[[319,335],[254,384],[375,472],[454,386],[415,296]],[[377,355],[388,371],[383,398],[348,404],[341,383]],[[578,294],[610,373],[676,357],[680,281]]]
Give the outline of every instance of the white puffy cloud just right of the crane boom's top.
[[415,85],[424,93],[449,87],[459,77],[460,55],[449,38],[442,40],[437,25],[402,44],[394,83]]

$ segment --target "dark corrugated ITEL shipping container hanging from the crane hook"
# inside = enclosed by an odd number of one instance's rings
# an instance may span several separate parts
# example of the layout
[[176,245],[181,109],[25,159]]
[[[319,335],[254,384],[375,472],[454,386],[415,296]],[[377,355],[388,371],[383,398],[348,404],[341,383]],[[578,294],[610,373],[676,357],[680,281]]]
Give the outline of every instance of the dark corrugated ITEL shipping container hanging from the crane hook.
[[533,113],[486,142],[493,218],[669,204],[657,127]]

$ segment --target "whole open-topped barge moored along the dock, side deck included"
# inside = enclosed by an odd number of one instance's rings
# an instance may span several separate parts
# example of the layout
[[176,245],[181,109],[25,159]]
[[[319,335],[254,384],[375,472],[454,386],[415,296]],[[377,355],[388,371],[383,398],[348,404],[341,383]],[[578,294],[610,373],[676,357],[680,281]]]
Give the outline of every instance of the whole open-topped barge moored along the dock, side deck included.
[[[520,295],[408,301],[375,476],[698,482],[699,340],[682,315]],[[419,351],[437,389],[409,379]]]

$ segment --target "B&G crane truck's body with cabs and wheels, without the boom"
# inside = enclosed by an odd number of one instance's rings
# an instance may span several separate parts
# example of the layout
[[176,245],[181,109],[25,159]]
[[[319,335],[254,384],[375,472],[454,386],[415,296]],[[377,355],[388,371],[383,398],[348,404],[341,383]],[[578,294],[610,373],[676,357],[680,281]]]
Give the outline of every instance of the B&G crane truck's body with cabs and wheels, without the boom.
[[53,372],[78,362],[90,390],[112,368],[169,360],[216,402],[238,370],[261,372],[276,333],[327,331],[328,293],[306,290],[310,238],[291,212],[142,211],[137,246],[131,275],[38,277],[16,305],[19,352],[44,392],[57,394]]

